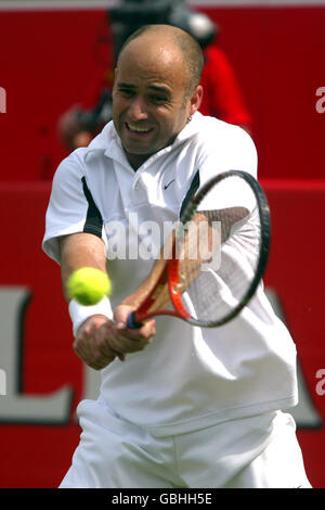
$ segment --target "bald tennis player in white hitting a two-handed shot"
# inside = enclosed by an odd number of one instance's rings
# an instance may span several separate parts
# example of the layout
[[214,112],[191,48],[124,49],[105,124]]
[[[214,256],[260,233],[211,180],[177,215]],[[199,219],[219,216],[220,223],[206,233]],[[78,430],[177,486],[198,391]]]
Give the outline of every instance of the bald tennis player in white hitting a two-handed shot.
[[[179,28],[134,33],[117,64],[113,122],[55,174],[43,250],[64,290],[84,266],[107,266],[114,289],[110,302],[68,305],[75,352],[102,384],[78,406],[82,434],[61,487],[310,487],[282,410],[297,404],[296,349],[263,293],[216,329],[168,317],[126,327],[134,306],[122,303],[154,264],[146,222],[162,232],[220,171],[257,176],[247,132],[197,112],[203,65]],[[229,194],[239,201],[240,190]]]

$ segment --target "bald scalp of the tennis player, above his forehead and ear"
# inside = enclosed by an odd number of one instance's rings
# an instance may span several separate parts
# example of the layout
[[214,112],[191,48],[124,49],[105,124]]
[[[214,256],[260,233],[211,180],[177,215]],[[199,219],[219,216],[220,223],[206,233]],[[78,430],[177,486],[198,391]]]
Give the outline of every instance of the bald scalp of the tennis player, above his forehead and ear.
[[200,46],[190,34],[171,25],[145,25],[126,40],[118,55],[117,67],[126,49],[135,40],[142,43],[142,48],[157,49],[157,58],[159,51],[164,51],[164,48],[166,48],[166,51],[172,48],[173,54],[177,50],[187,71],[186,95],[193,92],[200,81],[204,55]]

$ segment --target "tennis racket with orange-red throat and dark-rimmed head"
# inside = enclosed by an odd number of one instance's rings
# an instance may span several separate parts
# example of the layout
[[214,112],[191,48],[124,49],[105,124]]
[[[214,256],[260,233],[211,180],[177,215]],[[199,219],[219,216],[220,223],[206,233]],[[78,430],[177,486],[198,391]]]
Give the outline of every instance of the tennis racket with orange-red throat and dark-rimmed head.
[[270,208],[258,181],[230,170],[204,184],[165,242],[147,280],[132,294],[128,327],[159,315],[214,328],[255,295],[268,264]]

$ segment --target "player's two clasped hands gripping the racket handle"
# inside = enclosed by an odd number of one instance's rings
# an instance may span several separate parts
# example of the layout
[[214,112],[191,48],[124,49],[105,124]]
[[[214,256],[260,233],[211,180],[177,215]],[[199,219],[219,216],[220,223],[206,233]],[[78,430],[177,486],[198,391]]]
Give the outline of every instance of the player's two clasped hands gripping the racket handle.
[[89,317],[77,331],[74,343],[77,356],[94,370],[101,370],[116,357],[123,361],[126,354],[143,350],[156,333],[155,321],[146,322],[140,330],[129,330],[126,323],[132,309],[117,307],[114,322],[102,315]]

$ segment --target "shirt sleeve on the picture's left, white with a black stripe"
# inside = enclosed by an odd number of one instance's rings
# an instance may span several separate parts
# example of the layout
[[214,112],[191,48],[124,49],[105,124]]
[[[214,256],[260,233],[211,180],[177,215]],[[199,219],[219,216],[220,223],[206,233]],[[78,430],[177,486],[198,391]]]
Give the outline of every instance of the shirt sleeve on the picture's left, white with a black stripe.
[[82,149],[75,151],[57,167],[46,215],[42,250],[58,264],[58,238],[62,235],[92,233],[103,239],[107,247],[103,218],[89,189],[79,151]]

